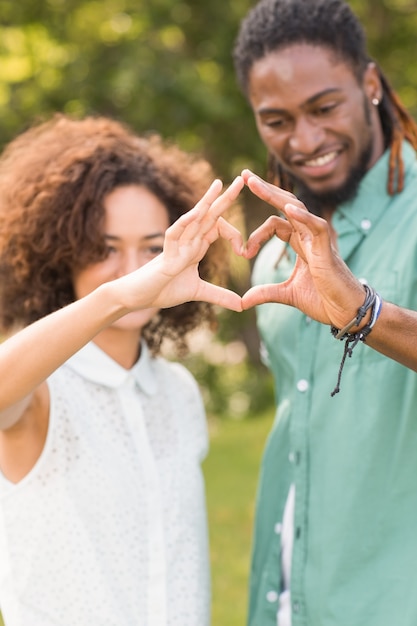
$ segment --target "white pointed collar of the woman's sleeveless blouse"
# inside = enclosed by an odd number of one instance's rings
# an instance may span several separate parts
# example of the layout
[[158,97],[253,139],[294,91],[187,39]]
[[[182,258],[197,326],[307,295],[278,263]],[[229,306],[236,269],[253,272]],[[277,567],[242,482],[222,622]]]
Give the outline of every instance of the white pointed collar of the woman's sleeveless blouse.
[[131,369],[116,363],[92,341],[68,359],[66,365],[85,379],[106,387],[117,389],[133,381],[147,395],[157,392],[152,357],[144,341],[140,357]]

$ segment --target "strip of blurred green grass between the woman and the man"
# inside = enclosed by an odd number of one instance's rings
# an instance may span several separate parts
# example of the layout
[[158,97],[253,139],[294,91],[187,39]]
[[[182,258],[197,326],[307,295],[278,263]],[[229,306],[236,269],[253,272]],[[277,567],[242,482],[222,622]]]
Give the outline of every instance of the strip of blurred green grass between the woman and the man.
[[[212,564],[212,626],[244,626],[254,500],[272,410],[256,418],[210,420],[204,463]],[[0,626],[4,626],[0,615]]]

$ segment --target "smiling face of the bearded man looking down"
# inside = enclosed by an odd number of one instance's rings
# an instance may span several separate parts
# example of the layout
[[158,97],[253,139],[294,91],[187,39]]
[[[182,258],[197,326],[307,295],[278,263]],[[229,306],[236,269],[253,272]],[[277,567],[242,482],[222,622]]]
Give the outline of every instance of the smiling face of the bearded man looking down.
[[307,202],[354,195],[384,150],[373,66],[359,83],[327,48],[296,44],[256,61],[248,91],[262,141]]

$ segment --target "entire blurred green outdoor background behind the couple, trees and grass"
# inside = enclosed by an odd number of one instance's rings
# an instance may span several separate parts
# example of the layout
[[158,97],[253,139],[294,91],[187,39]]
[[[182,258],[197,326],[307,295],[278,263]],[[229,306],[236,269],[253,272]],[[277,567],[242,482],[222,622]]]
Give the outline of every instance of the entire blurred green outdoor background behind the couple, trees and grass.
[[[204,154],[226,183],[242,167],[265,174],[265,151],[231,58],[249,0],[0,0],[0,149],[55,111],[101,114],[157,131]],[[352,0],[369,51],[417,115],[417,1]],[[306,16],[308,19],[308,16]],[[242,195],[241,227],[269,213]],[[243,293],[250,267],[234,260]],[[213,565],[213,625],[245,623],[253,503],[273,391],[259,359],[255,313],[219,312],[186,364],[206,401],[205,463]],[[1,555],[0,555],[1,558]],[[1,618],[0,618],[1,623]]]

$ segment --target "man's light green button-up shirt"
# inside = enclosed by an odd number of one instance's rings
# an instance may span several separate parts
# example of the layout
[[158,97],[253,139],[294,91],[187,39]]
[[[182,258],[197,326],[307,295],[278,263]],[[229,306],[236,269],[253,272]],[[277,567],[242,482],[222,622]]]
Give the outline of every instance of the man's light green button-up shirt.
[[[386,192],[388,154],[333,226],[353,273],[385,300],[417,310],[417,163]],[[285,280],[294,255],[278,239],[254,283]],[[417,624],[417,375],[362,343],[331,397],[344,344],[328,326],[280,304],[258,307],[277,413],[257,497],[250,626],[276,626],[281,523],[295,483],[293,626]]]

